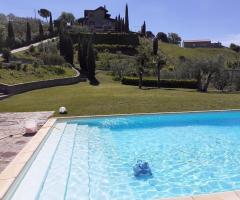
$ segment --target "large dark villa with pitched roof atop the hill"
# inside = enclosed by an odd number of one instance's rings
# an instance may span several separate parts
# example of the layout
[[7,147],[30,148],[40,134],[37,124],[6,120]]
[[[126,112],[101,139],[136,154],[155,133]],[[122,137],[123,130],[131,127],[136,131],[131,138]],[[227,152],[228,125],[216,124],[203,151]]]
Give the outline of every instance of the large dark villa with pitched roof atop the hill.
[[95,10],[85,10],[84,17],[78,20],[80,24],[89,27],[93,32],[115,31],[115,21],[108,14],[105,6]]

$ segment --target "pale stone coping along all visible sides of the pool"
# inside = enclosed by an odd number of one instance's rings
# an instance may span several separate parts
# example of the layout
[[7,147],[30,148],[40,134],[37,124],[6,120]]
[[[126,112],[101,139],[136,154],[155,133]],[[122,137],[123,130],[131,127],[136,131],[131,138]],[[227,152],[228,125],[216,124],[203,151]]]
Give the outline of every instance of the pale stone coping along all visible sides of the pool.
[[[86,115],[86,116],[66,116],[66,117],[52,117],[41,127],[41,129],[35,134],[35,136],[27,143],[27,145],[16,155],[16,157],[10,162],[10,164],[0,173],[0,200],[6,198],[6,195],[12,189],[12,186],[27,166],[28,162],[33,157],[34,153],[40,147],[40,144],[44,141],[48,135],[50,129],[58,120],[70,120],[73,118],[90,118],[90,117],[116,117],[116,116],[134,116],[134,115],[160,115],[160,114],[184,114],[184,113],[207,113],[207,112],[231,112],[240,111],[240,109],[227,109],[227,110],[202,110],[202,111],[182,111],[182,112],[158,112],[158,113],[133,113],[133,114],[112,114],[112,115]],[[229,194],[234,194],[236,200],[240,200],[240,190],[210,193],[204,195],[191,195],[187,197],[175,197],[175,198],[157,198],[159,200],[200,200],[209,197],[209,200],[219,199],[220,197],[227,197]],[[197,199],[195,199],[197,198]],[[228,199],[228,198],[227,198]],[[223,198],[225,200],[225,198]],[[235,199],[234,199],[235,200]]]

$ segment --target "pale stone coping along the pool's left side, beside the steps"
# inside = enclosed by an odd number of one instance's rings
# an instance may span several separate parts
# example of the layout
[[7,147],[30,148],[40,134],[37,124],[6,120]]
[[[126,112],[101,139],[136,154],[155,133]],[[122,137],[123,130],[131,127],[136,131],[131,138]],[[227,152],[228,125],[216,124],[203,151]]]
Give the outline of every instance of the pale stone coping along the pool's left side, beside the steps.
[[27,163],[31,160],[40,144],[44,141],[57,118],[50,118],[33,136],[26,146],[16,155],[9,165],[0,173],[0,200],[12,189],[20,174],[24,171]]

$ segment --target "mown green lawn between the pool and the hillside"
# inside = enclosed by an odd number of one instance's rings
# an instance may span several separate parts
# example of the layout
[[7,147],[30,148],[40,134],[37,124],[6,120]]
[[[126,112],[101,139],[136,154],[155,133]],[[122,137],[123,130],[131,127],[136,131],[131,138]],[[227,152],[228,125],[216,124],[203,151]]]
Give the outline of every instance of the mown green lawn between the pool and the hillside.
[[60,106],[66,106],[68,115],[74,116],[240,108],[240,94],[203,94],[184,89],[139,90],[113,82],[102,73],[97,77],[101,81],[97,87],[80,83],[10,97],[0,101],[0,112],[57,111]]

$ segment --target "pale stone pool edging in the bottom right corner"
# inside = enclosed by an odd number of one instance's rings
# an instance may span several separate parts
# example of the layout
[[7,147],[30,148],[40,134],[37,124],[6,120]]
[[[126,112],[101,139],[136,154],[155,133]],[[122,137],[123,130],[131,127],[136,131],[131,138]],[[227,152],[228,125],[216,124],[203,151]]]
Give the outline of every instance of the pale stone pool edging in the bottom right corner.
[[191,197],[166,198],[160,200],[240,200],[240,191],[222,192]]

